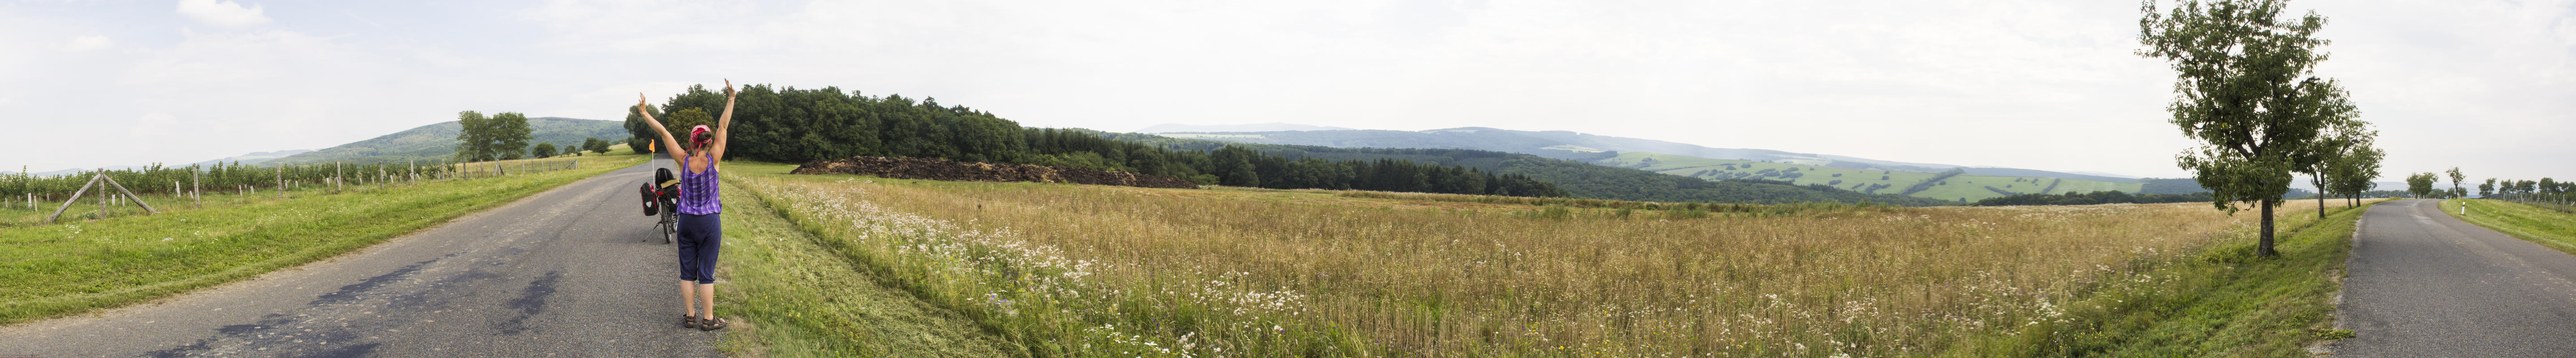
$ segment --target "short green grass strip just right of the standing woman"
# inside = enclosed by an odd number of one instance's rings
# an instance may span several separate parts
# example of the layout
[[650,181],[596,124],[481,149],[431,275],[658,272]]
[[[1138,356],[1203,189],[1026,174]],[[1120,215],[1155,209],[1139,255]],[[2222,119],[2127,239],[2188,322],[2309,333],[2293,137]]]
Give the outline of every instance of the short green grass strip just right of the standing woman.
[[[732,165],[726,170],[734,170]],[[1018,348],[956,312],[878,283],[873,270],[822,247],[778,216],[768,198],[724,188],[724,263],[716,286],[739,327],[726,335],[734,355],[873,358],[943,355],[1007,358]]]

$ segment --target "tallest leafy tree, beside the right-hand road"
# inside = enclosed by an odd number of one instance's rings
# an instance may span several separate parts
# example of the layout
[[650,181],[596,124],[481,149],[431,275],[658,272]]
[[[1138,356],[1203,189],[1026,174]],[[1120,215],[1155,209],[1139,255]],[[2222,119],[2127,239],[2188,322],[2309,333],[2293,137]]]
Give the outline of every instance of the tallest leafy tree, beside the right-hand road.
[[2174,157],[2210,188],[2213,206],[2236,214],[2239,201],[2262,209],[2254,255],[2272,250],[2272,206],[2290,191],[2290,173],[2326,155],[2326,134],[2360,111],[2334,80],[2313,77],[2326,59],[2316,39],[2326,18],[2282,18],[2285,0],[2184,0],[2172,13],[2146,3],[2138,21],[2141,57],[2166,59],[2177,72],[2166,111],[2184,137],[2200,142]]

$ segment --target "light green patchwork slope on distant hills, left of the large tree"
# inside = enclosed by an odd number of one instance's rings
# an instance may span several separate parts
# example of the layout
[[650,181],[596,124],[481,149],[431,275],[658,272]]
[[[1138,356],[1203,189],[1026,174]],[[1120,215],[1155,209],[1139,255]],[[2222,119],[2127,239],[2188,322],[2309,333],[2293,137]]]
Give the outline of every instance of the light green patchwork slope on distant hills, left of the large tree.
[[[1819,165],[1788,165],[1788,162],[1757,162],[1757,160],[1708,160],[1708,157],[1662,155],[1662,152],[1620,152],[1618,157],[1595,160],[1592,165],[1654,170],[1654,173],[1705,178],[1705,180],[1726,180],[1726,178],[1790,180],[1798,185],[1834,185],[1865,193],[1901,193],[1909,185],[1935,175],[1935,173],[1906,173],[1906,170],[1852,170],[1852,167],[1819,167]],[[1940,198],[1940,201],[1963,201],[1963,198],[1978,201],[1978,198],[2004,196],[1989,191],[1989,185],[2007,193],[2040,193],[2043,188],[2048,193],[2066,193],[2066,191],[2138,193],[2143,183],[1958,175],[1914,196]]]

